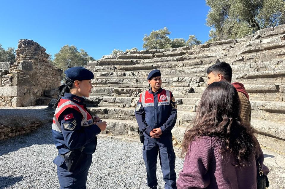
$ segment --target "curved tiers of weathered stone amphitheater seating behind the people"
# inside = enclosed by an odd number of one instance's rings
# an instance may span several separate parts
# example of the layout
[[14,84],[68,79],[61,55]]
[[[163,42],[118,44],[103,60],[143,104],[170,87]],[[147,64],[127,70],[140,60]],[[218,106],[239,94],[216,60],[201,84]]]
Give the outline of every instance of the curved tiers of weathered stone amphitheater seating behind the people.
[[[285,187],[285,25],[266,28],[238,40],[224,40],[194,47],[154,49],[107,55],[89,61],[95,78],[92,113],[107,121],[106,133],[138,136],[134,107],[139,94],[149,88],[148,73],[162,72],[162,87],[178,102],[173,143],[182,141],[194,118],[207,85],[206,68],[225,61],[233,69],[233,81],[245,85],[250,96],[251,126],[261,145],[278,150],[279,162],[266,160],[272,188]],[[222,99],[221,99],[222,100]],[[265,155],[266,156],[266,155]],[[273,156],[274,157],[274,156]],[[280,159],[280,158],[279,158]],[[283,164],[281,163],[283,161]],[[280,165],[282,164],[282,166]]]

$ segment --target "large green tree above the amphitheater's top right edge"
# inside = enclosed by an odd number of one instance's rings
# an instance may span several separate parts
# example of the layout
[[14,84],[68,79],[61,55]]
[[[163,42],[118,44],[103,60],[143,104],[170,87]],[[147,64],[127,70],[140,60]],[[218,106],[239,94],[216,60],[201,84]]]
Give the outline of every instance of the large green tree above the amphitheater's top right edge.
[[259,29],[285,24],[284,0],[206,0],[209,41],[237,39]]

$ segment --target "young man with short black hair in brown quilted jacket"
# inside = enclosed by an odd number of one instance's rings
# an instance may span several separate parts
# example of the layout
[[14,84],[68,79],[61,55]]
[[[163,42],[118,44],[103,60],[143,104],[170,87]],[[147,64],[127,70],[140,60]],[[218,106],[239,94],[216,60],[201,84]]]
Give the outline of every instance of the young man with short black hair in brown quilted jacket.
[[[232,82],[232,68],[228,63],[219,62],[207,69],[208,74],[208,85],[215,82],[226,80],[228,82]],[[243,87],[243,84],[235,82],[232,85],[238,91],[238,97],[240,98],[240,118],[245,124],[250,124],[251,118],[251,105],[249,102],[249,96],[246,92],[246,89]]]

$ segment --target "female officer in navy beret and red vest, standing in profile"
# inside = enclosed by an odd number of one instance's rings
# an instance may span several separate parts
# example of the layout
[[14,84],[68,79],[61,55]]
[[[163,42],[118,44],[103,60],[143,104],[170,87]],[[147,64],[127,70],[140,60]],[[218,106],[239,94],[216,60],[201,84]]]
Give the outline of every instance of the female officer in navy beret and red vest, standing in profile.
[[52,134],[58,156],[53,163],[57,165],[61,189],[83,189],[96,150],[96,135],[106,129],[106,121],[98,117],[94,120],[83,104],[83,96],[89,97],[91,92],[93,73],[82,67],[69,68],[64,73],[67,78],[58,88],[54,105]]

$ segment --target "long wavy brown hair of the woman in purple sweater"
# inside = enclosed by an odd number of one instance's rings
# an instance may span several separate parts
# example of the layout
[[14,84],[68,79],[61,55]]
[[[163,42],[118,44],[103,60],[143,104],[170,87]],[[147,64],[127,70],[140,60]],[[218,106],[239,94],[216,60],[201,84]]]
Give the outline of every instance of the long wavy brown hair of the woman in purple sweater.
[[213,82],[202,94],[196,117],[184,133],[182,156],[189,152],[189,145],[196,137],[210,136],[222,140],[220,153],[232,154],[235,166],[249,165],[257,150],[258,142],[253,129],[240,121],[238,92],[227,81]]

